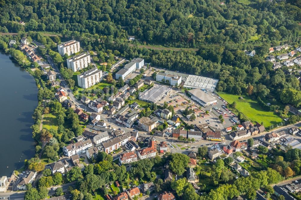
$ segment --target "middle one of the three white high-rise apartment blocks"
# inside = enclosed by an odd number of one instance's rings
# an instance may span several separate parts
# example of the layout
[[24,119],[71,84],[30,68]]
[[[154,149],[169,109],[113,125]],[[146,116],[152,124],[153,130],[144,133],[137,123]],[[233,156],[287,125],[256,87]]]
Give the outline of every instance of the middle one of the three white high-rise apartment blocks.
[[90,54],[80,53],[67,59],[67,67],[68,69],[72,69],[72,71],[76,72],[88,67],[90,62]]

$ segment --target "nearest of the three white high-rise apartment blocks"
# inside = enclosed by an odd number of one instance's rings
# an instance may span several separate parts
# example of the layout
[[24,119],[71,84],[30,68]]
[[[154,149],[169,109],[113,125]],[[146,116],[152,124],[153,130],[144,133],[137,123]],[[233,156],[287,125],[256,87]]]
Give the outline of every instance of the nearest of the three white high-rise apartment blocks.
[[88,88],[102,81],[102,71],[97,67],[77,75],[78,86]]

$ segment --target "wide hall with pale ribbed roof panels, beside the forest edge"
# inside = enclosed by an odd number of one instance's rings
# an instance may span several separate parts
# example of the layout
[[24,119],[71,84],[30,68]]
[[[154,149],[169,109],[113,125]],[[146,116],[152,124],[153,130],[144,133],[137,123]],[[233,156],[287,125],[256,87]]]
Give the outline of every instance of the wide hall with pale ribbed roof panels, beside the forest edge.
[[218,79],[214,78],[188,75],[187,79],[185,80],[184,87],[189,89],[200,88],[214,91],[218,81]]

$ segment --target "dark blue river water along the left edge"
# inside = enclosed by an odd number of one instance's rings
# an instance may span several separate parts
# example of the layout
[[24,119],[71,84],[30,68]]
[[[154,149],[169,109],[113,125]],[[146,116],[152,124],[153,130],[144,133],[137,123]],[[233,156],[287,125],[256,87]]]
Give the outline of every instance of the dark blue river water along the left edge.
[[30,126],[37,93],[34,78],[0,53],[0,177],[9,177],[35,154]]

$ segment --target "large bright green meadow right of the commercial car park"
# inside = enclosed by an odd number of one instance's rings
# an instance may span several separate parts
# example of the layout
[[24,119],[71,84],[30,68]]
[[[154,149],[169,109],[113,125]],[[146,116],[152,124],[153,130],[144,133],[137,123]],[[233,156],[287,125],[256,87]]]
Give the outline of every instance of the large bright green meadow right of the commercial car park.
[[263,122],[265,127],[282,122],[282,119],[275,112],[264,111],[260,108],[256,100],[250,99],[247,96],[243,96],[244,99],[242,100],[239,99],[239,95],[219,94],[219,96],[225,99],[228,103],[233,103],[235,101],[236,109],[247,116],[252,122]]

